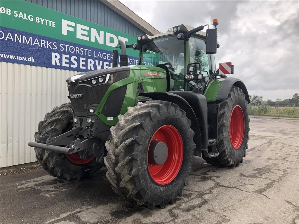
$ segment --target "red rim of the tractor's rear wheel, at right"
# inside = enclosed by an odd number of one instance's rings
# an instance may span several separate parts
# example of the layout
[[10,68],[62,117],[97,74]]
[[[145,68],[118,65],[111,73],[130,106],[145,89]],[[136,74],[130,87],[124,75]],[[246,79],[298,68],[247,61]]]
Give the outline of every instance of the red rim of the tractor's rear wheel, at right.
[[239,105],[234,106],[229,120],[229,135],[231,145],[234,149],[239,149],[242,145],[245,131],[244,114]]

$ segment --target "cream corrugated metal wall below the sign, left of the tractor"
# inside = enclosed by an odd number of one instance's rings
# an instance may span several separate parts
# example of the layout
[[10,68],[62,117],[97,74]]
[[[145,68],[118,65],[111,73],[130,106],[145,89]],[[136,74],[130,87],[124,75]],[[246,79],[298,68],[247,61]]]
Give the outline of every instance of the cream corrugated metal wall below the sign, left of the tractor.
[[69,102],[65,80],[76,71],[0,62],[0,167],[34,162],[39,121]]

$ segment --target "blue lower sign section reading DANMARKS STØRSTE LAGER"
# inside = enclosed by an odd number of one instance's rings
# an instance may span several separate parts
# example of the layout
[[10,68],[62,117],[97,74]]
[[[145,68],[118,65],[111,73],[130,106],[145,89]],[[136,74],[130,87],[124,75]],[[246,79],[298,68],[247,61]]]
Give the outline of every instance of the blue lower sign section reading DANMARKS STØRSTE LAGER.
[[[3,62],[84,72],[112,67],[112,58],[112,51],[0,27]],[[138,58],[128,58],[128,65],[138,65]]]

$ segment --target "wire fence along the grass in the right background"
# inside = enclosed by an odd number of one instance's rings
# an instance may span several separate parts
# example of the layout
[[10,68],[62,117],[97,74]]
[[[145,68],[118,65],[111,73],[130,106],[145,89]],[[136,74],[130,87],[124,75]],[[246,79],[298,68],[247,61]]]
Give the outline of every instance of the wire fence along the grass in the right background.
[[299,118],[299,102],[277,101],[248,104],[249,115]]

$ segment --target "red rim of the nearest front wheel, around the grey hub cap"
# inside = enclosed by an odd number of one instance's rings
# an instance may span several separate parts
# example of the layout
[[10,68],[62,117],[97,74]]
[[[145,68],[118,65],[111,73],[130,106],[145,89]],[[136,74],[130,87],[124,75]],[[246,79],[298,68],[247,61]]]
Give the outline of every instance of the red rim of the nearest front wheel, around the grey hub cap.
[[[173,181],[179,173],[183,161],[183,141],[179,131],[171,125],[163,125],[153,134],[151,141],[164,142],[168,148],[168,157],[164,164],[149,164],[147,159],[147,168],[152,179],[161,185]],[[149,146],[147,148],[147,157]]]

